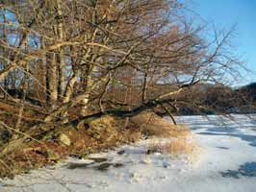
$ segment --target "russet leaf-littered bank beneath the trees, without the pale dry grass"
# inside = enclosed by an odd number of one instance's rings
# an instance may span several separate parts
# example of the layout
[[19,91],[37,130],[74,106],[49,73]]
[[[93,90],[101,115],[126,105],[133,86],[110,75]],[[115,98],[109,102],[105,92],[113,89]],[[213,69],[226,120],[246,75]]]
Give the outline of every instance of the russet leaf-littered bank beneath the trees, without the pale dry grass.
[[124,120],[121,118],[104,116],[83,127],[46,132],[38,141],[23,143],[22,148],[0,156],[0,178],[13,178],[30,169],[56,163],[66,156],[83,157],[141,138],[141,131],[136,124],[130,122],[126,128],[123,125]]

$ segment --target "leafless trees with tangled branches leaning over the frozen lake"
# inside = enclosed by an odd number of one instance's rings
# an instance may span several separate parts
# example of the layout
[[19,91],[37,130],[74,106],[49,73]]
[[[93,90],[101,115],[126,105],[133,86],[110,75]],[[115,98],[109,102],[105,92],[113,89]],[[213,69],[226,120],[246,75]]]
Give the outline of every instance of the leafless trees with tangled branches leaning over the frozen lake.
[[209,39],[182,10],[168,0],[1,1],[2,89],[15,70],[15,89],[27,77],[24,105],[38,126],[147,108],[171,115],[196,100],[184,99],[192,86],[222,83],[241,64],[228,51],[233,30]]

